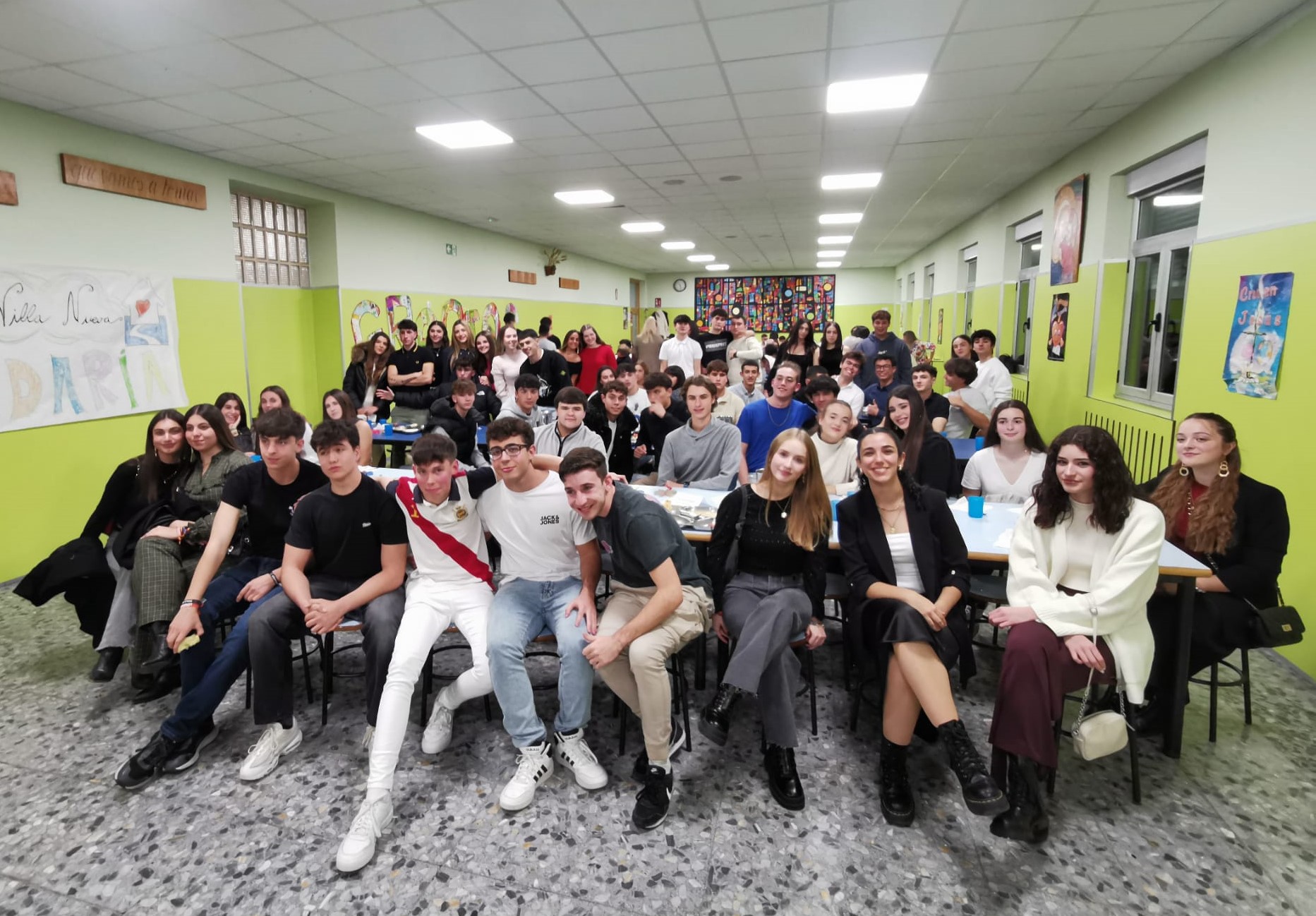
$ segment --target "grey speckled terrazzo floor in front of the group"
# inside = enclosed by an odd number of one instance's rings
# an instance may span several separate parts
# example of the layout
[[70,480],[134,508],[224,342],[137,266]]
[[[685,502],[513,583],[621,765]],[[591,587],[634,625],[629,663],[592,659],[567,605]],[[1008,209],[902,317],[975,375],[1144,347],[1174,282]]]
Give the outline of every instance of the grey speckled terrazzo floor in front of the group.
[[[61,601],[38,609],[0,591],[0,913],[1316,913],[1316,686],[1266,653],[1252,665],[1250,728],[1238,691],[1225,691],[1209,745],[1207,695],[1194,688],[1183,758],[1142,744],[1141,805],[1126,755],[1063,753],[1051,838],[1038,848],[998,840],[967,815],[930,746],[912,755],[917,821],[886,827],[875,717],[846,729],[834,640],[816,654],[817,737],[799,701],[808,807],[797,813],[767,792],[747,701],[725,749],[696,732],[676,762],[671,817],[636,833],[628,774],[640,734],[632,721],[619,755],[601,682],[588,737],[612,782],[588,794],[555,774],[530,808],[504,813],[511,744],[468,703],[442,755],[421,754],[413,721],[396,820],[375,861],[343,877],[333,857],[366,776],[359,679],[340,682],[325,728],[318,701],[299,694],[305,740],[258,783],[237,778],[258,737],[240,682],[203,761],[130,794],[113,771],[176,694],[129,704],[126,666],[111,684],[89,683],[93,653]],[[458,667],[468,655],[440,658]],[[998,657],[979,658],[958,698],[984,746]],[[538,678],[551,682],[544,665]],[[694,715],[713,686],[695,692]],[[545,717],[554,701],[540,695]]]

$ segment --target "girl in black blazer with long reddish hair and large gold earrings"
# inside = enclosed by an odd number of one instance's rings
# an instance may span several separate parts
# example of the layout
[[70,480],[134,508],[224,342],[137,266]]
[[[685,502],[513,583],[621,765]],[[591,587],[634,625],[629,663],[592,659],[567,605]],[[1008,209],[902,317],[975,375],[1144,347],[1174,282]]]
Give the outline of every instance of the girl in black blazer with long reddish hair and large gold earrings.
[[[1242,455],[1233,424],[1219,413],[1192,413],[1175,436],[1178,463],[1144,484],[1165,515],[1166,540],[1209,566],[1215,575],[1198,579],[1188,649],[1188,674],[1219,662],[1240,648],[1253,648],[1257,608],[1279,603],[1279,570],[1288,551],[1284,495],[1241,472]],[[1249,601],[1252,605],[1249,605]],[[1155,661],[1148,705],[1136,716],[1138,729],[1159,730],[1174,692],[1178,608],[1158,591],[1148,601],[1155,636]]]

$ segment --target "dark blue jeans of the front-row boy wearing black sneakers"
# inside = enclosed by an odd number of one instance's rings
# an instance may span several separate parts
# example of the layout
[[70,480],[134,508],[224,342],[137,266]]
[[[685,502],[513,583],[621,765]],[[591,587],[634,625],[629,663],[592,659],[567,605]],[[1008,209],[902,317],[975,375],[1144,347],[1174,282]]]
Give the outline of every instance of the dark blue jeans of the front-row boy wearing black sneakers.
[[[201,629],[205,632],[201,633],[200,642],[178,657],[183,678],[183,699],[179,700],[174,715],[161,725],[161,734],[166,738],[184,741],[196,734],[220,708],[229,687],[246,671],[246,630],[251,612],[275,595],[282,595],[283,590],[271,588],[265,598],[251,605],[238,601],[238,592],[251,579],[272,572],[279,565],[278,559],[247,557],[216,576],[205,590],[205,607],[201,608]],[[218,623],[233,617],[238,611],[243,613],[233,624],[216,655],[215,636]]]

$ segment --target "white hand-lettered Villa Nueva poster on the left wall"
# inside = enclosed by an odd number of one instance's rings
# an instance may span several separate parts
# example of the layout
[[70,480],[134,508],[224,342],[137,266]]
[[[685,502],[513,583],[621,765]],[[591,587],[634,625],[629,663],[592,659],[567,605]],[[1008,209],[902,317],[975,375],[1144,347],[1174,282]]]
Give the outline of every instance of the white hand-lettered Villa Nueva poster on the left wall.
[[0,432],[187,404],[174,282],[0,268]]

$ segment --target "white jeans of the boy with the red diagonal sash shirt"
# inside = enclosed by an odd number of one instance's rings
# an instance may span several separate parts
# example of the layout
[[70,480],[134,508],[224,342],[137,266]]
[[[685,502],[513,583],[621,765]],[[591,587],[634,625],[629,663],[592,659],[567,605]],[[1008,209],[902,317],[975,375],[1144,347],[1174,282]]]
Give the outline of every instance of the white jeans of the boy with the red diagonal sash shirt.
[[407,580],[407,611],[403,613],[393,657],[388,662],[388,679],[379,700],[367,790],[393,787],[393,770],[397,769],[397,753],[403,746],[403,736],[407,734],[407,716],[416,679],[434,641],[449,624],[457,624],[457,629],[470,644],[474,663],[443,688],[434,701],[455,709],[466,700],[484,696],[494,688],[487,649],[492,600],[494,592],[484,583],[454,586],[424,575]]

